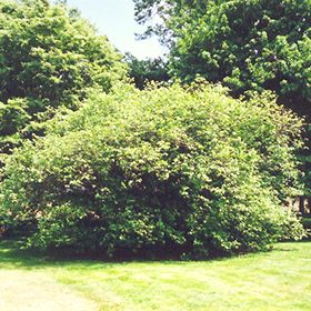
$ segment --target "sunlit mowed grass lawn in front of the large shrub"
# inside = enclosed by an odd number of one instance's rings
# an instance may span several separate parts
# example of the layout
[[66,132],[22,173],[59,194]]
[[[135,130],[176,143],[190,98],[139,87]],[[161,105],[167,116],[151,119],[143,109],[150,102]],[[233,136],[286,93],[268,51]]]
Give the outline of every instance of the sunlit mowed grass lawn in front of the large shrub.
[[311,242],[211,261],[52,260],[0,242],[0,310],[311,310]]

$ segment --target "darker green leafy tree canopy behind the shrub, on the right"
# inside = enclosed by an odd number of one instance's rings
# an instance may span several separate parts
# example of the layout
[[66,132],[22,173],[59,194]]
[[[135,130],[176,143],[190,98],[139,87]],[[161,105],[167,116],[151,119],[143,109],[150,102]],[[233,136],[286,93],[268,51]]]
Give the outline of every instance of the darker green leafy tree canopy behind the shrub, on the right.
[[282,102],[311,101],[310,0],[134,0],[137,20],[169,41],[171,74],[221,81],[233,93],[275,91]]

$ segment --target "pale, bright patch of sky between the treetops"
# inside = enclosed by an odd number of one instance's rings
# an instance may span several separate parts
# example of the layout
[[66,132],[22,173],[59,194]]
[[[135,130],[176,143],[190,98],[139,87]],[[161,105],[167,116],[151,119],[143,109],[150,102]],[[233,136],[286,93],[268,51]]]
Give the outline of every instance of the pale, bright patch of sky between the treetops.
[[132,0],[68,0],[69,7],[78,8],[84,18],[106,34],[121,52],[131,52],[139,59],[157,58],[164,50],[157,38],[137,40],[134,33],[142,33],[143,27],[134,21]]

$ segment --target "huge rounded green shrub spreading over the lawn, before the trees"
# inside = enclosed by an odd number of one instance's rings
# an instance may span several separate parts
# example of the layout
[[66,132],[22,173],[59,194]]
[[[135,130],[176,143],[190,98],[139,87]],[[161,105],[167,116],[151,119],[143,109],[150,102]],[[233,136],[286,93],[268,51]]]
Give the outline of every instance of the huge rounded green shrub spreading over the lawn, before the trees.
[[204,84],[93,93],[13,153],[0,217],[27,229],[29,245],[108,255],[202,257],[297,239],[281,201],[295,188],[301,121],[271,101]]

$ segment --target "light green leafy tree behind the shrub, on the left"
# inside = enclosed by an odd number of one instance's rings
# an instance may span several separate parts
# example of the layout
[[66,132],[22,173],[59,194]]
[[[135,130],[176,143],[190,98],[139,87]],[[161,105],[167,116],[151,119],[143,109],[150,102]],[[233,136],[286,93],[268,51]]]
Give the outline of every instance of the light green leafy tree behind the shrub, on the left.
[[76,10],[44,0],[0,2],[0,68],[1,153],[31,136],[26,127],[39,112],[74,108],[89,88],[107,92],[126,74],[106,37]]

